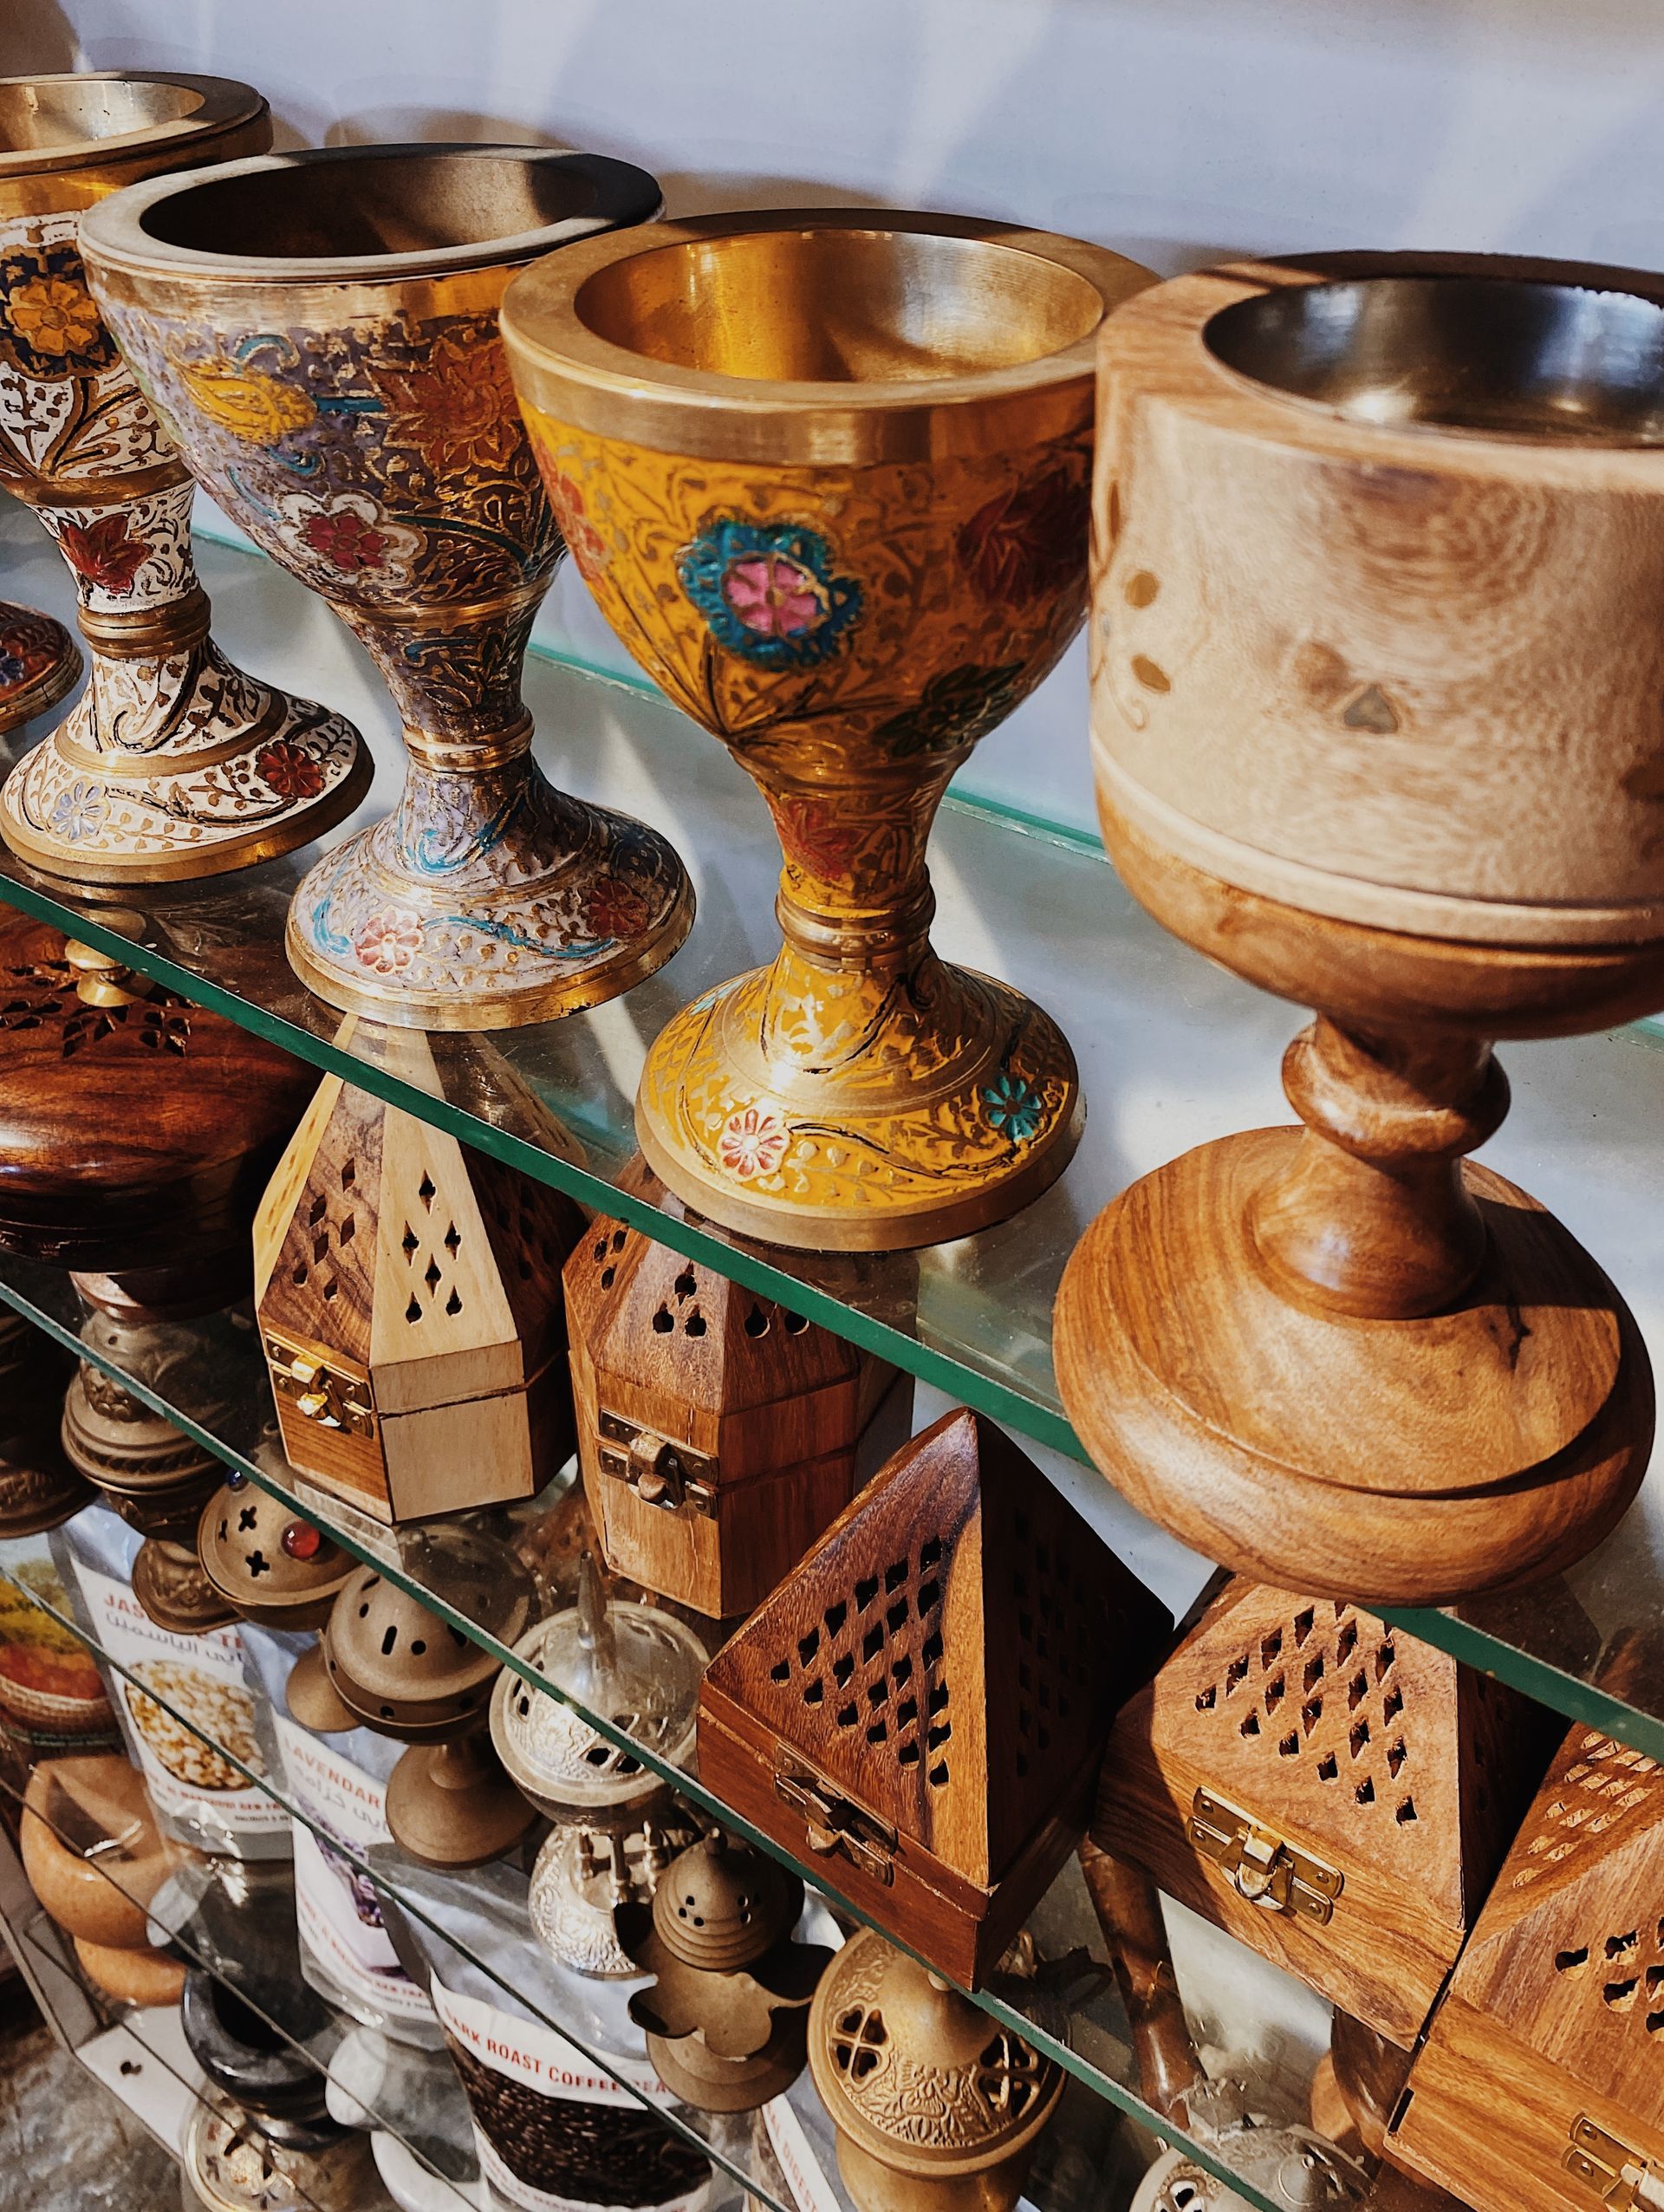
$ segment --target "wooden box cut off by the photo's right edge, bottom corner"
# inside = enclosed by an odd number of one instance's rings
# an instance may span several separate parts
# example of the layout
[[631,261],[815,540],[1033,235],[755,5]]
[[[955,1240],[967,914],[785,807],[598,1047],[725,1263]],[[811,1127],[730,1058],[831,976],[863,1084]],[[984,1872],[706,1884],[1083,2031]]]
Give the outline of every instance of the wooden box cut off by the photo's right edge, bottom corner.
[[1478,1918],[1387,2137],[1509,2212],[1664,2203],[1664,1772],[1578,1723]]

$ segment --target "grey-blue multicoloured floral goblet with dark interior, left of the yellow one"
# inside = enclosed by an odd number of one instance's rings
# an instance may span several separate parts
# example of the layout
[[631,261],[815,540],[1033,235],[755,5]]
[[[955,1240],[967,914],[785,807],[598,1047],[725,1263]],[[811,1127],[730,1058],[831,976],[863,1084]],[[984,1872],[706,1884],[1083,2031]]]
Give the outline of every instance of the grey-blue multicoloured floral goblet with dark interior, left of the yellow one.
[[398,812],[290,907],[290,960],[332,1006],[542,1022],[688,933],[666,841],[531,759],[520,666],[562,542],[496,330],[513,268],[657,206],[646,170],[597,155],[350,146],[157,179],[82,226],[190,467],[352,626],[405,721]]

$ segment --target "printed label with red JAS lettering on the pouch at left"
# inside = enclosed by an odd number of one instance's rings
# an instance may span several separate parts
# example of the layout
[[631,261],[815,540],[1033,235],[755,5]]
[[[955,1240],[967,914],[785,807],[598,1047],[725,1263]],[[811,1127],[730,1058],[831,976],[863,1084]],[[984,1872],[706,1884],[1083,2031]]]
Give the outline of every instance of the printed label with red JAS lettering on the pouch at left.
[[[290,1816],[230,1763],[237,1759],[250,1774],[266,1772],[254,1741],[254,1699],[243,1688],[237,1630],[177,1637],[157,1628],[124,1582],[84,1562],[77,1562],[75,1575],[100,1648],[137,1683],[155,1690],[155,1697],[146,1697],[133,1681],[115,1681],[157,1812],[206,1820],[239,1836],[281,1836]],[[166,1699],[173,1712],[157,1699]],[[210,1743],[175,1721],[175,1712],[223,1745],[230,1759],[221,1759]]]

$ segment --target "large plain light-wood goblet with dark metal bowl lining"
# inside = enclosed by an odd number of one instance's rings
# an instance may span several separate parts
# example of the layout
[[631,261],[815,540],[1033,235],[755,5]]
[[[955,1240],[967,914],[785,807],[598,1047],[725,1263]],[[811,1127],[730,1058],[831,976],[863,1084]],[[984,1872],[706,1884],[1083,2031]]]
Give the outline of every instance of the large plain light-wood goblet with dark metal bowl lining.
[[1082,1239],[1098,1464],[1241,1573],[1443,1604],[1589,1551],[1653,1383],[1598,1263],[1465,1166],[1494,1037],[1664,1002],[1664,305],[1556,263],[1182,276],[1106,327],[1093,757],[1133,894],[1319,1009],[1303,1130]]

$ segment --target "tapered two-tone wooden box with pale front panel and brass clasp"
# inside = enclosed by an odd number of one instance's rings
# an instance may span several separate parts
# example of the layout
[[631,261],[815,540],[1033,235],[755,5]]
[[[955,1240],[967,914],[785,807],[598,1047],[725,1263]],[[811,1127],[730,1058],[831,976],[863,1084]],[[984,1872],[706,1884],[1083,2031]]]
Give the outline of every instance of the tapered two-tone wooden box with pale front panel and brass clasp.
[[571,1451],[560,1267],[582,1225],[562,1192],[327,1077],[254,1221],[294,1467],[385,1522],[540,1489]]

